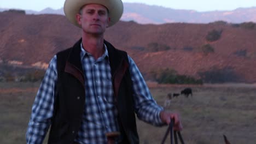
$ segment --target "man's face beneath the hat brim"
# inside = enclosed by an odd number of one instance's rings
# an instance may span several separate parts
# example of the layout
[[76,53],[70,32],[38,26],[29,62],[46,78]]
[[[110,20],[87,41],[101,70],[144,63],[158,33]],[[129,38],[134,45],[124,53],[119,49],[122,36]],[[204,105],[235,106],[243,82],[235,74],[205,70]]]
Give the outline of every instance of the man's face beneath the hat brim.
[[85,33],[98,35],[105,32],[110,21],[106,7],[100,4],[87,4],[80,13],[77,14],[77,22]]

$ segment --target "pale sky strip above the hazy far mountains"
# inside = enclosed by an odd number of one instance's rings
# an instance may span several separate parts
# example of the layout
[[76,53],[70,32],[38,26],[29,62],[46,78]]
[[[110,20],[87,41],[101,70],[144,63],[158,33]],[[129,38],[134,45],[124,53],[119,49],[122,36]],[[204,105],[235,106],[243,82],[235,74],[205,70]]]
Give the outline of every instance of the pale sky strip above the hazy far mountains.
[[[0,0],[0,8],[40,11],[45,8],[60,9],[65,0]],[[160,5],[172,9],[196,11],[234,10],[256,7],[256,0],[123,0],[124,3]]]

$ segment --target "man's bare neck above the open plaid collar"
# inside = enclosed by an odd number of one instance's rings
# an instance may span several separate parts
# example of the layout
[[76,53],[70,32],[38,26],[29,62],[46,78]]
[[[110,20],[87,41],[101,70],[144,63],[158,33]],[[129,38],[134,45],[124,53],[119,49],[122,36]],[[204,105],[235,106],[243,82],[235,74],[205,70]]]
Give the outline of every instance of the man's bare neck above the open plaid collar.
[[91,53],[95,59],[98,59],[104,53],[103,35],[101,37],[88,37],[88,35],[83,35],[82,44],[85,51]]

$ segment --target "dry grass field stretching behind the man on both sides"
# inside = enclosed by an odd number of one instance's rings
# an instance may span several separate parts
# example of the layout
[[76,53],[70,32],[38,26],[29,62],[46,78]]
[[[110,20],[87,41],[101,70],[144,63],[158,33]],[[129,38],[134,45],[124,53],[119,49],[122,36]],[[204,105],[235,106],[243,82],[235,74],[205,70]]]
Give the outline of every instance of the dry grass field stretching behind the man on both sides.
[[[26,143],[25,133],[39,83],[0,83],[0,143]],[[178,111],[183,139],[188,144],[256,143],[255,85],[149,85],[157,103],[164,106],[167,93],[193,89],[193,97],[179,95],[166,110]],[[142,144],[160,143],[167,127],[153,127],[138,121]],[[166,141],[170,143],[170,141]]]

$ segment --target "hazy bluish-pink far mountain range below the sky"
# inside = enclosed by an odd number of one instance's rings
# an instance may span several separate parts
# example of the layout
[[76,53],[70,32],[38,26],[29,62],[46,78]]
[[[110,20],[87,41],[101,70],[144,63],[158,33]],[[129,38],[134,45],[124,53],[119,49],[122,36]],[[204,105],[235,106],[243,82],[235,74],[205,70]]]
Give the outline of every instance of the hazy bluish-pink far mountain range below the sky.
[[[0,9],[1,11],[1,9]],[[26,10],[27,14],[59,14],[64,15],[63,9],[46,8],[42,11]],[[256,7],[238,8],[231,11],[206,11],[181,10],[146,5],[141,3],[124,3],[123,21],[135,21],[141,24],[154,23],[209,23],[226,21],[229,23],[256,22]]]

